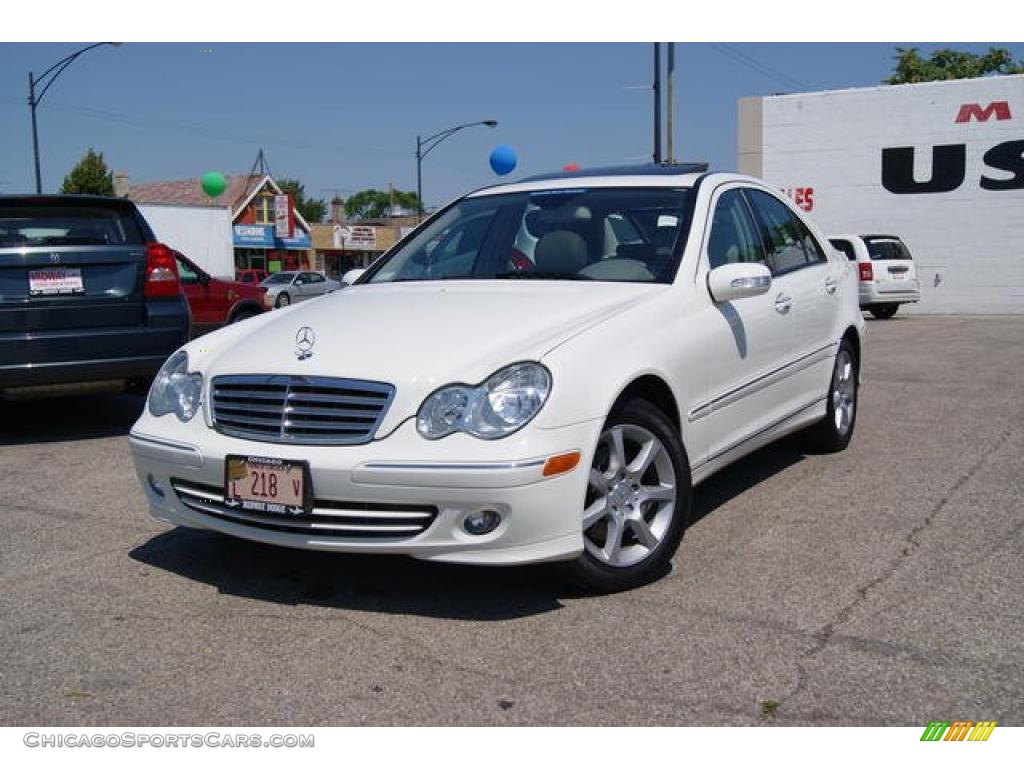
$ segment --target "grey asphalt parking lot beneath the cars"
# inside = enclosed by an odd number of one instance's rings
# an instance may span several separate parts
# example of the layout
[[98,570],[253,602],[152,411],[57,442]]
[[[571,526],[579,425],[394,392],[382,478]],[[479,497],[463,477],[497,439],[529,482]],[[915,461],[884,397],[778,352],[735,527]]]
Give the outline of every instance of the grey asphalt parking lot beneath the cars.
[[168,529],[140,398],[0,404],[0,725],[1024,725],[1022,341],[868,322],[850,450],[734,465],[607,597]]

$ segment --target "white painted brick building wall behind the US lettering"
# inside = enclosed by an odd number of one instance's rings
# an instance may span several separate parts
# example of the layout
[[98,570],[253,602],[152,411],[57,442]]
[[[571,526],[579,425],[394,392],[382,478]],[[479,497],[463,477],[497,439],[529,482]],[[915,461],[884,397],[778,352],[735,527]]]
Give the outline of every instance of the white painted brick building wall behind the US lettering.
[[[1007,103],[1009,119],[956,121],[964,104],[996,101]],[[920,311],[1024,313],[1024,188],[980,185],[982,176],[1015,177],[983,158],[1004,142],[1024,142],[1024,76],[770,96],[761,108],[741,102],[740,119],[761,119],[763,178],[802,196],[812,189],[809,214],[825,232],[901,237],[921,271]],[[741,125],[740,133],[750,143],[758,131]],[[883,186],[884,147],[913,146],[913,178],[927,181],[932,147],[946,144],[966,145],[958,188],[897,195]],[[1024,182],[1024,143],[1008,148]],[[740,156],[758,167],[743,141]]]

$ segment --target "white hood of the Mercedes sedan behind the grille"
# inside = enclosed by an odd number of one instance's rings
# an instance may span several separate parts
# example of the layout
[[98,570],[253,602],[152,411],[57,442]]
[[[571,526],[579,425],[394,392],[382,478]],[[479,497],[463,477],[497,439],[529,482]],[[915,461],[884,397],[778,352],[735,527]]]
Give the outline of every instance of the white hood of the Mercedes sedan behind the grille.
[[[453,382],[478,383],[545,352],[667,286],[435,281],[362,285],[274,310],[189,345],[191,368],[227,374],[333,376],[393,384],[386,433]],[[300,359],[296,337],[315,334]]]

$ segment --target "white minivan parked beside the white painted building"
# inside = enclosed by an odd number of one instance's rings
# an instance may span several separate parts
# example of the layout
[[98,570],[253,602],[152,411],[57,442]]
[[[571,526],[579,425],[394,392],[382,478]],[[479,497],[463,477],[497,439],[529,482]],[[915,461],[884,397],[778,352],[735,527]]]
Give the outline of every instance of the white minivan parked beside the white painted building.
[[836,234],[829,242],[857,264],[862,309],[889,319],[900,304],[921,301],[918,268],[895,234]]

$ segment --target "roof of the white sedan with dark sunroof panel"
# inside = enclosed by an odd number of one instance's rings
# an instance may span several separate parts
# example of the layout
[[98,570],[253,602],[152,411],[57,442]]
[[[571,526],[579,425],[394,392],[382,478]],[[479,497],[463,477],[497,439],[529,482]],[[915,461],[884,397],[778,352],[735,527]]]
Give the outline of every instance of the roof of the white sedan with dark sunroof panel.
[[708,171],[707,163],[648,163],[646,165],[585,168],[528,176],[520,181],[496,184],[467,197],[486,197],[539,189],[572,189],[578,186],[692,186]]

